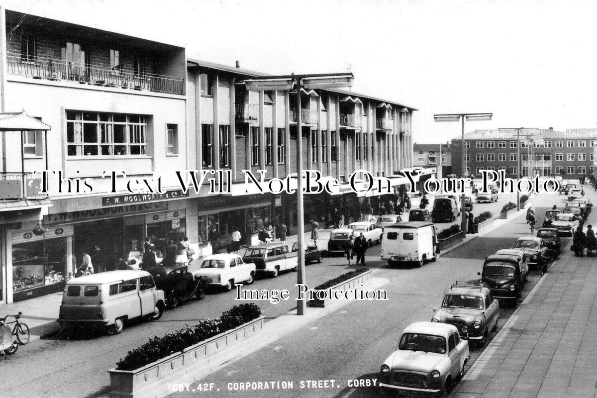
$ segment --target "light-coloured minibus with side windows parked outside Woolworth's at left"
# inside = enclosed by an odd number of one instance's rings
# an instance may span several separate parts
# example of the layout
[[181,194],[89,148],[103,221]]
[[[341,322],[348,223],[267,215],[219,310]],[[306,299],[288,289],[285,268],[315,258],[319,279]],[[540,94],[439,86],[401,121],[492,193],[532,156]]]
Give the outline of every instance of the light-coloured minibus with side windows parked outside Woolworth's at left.
[[129,319],[159,319],[164,307],[164,291],[156,288],[149,272],[107,271],[67,281],[56,321],[60,326],[96,326],[118,334]]

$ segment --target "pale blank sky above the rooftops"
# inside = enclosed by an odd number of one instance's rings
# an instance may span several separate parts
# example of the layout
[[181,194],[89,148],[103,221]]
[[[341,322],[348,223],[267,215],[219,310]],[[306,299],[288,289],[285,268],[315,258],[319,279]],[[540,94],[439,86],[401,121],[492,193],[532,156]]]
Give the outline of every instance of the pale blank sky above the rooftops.
[[351,70],[353,90],[418,109],[417,143],[465,132],[597,128],[597,2],[4,0],[9,9],[184,45],[273,74]]

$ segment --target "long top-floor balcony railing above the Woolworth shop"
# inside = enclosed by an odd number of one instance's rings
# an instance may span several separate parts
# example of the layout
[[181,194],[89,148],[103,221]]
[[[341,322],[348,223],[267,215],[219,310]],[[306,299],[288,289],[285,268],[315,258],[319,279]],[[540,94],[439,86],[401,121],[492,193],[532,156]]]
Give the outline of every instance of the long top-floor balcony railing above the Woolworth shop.
[[78,64],[43,57],[7,55],[7,69],[11,75],[52,81],[71,81],[106,87],[149,90],[184,95],[184,79],[171,76],[113,70],[88,64]]

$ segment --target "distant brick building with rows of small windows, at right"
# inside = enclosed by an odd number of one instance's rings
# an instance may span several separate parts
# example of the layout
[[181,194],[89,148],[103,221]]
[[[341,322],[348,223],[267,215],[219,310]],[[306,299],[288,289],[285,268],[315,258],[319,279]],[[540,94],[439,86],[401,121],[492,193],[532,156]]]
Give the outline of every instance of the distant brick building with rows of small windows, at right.
[[[466,175],[478,178],[483,169],[504,170],[510,178],[538,174],[573,179],[593,173],[597,129],[539,129],[531,137],[521,133],[519,138],[520,141],[516,132],[509,130],[476,130],[465,134]],[[461,175],[460,138],[452,140],[452,154],[453,172]]]

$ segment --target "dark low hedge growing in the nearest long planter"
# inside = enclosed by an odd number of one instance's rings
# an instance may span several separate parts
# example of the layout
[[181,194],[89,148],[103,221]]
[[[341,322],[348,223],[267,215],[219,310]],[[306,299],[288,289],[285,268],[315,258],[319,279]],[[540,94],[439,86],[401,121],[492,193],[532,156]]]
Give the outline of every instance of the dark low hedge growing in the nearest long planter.
[[147,343],[128,351],[124,359],[116,363],[116,369],[121,371],[139,369],[193,344],[238,328],[243,323],[250,322],[259,316],[261,316],[261,309],[256,304],[246,303],[234,306],[230,310],[224,311],[217,319],[204,319],[195,325],[186,325],[163,337],[150,338]]

